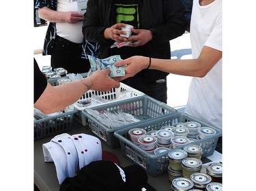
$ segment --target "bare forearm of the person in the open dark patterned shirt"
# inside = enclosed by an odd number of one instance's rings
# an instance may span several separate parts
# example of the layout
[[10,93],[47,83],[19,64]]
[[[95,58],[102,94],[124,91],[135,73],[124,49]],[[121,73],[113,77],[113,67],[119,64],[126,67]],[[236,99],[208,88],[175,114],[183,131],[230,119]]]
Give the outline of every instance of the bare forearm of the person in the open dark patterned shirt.
[[43,7],[38,9],[38,14],[40,18],[49,22],[66,22],[66,12],[57,12],[48,7]]

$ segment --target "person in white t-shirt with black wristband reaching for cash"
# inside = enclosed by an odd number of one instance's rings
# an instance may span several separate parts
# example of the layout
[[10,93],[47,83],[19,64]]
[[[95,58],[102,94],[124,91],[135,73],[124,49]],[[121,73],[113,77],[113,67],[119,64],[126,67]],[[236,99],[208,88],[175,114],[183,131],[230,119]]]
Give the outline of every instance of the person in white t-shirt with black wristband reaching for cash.
[[[132,56],[115,64],[126,65],[126,76],[119,81],[147,68],[193,76],[185,113],[222,129],[222,0],[193,1],[190,40],[193,59]],[[222,143],[218,147],[222,152]]]

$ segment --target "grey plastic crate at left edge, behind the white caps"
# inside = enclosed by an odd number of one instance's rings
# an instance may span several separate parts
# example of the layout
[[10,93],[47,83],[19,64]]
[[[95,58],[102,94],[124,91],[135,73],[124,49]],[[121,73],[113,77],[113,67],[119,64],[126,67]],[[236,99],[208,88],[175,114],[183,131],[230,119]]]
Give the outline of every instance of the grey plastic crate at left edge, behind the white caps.
[[49,116],[40,120],[34,120],[34,141],[52,137],[72,130],[74,114],[77,110]]

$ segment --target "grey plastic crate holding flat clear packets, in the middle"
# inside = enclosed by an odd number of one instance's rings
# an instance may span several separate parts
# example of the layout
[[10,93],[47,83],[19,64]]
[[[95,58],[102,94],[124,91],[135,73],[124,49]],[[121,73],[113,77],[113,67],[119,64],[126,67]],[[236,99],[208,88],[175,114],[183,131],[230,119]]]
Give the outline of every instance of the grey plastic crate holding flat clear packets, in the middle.
[[148,97],[147,95],[115,101],[113,103],[107,103],[104,105],[97,105],[90,107],[90,109],[100,112],[122,110],[127,114],[132,114],[135,118],[139,118],[139,120],[141,120],[139,122],[119,126],[117,128],[108,128],[106,125],[102,124],[96,120],[96,118],[88,114],[86,110],[83,110],[82,113],[86,118],[88,118],[89,128],[91,131],[100,137],[100,139],[102,139],[103,142],[106,143],[106,145],[109,145],[111,148],[120,146],[119,140],[114,136],[115,131],[126,128],[130,125],[141,124],[145,121],[150,121],[162,116],[169,116],[177,113],[176,109],[173,109],[172,107],[169,107],[165,103],[157,101],[152,97]]

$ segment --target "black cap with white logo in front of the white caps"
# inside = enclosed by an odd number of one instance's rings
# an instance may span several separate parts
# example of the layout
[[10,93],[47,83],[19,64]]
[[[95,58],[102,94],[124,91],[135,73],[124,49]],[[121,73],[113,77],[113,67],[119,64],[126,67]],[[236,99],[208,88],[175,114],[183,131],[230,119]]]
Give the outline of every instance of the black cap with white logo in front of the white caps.
[[147,184],[147,173],[137,164],[119,167],[115,162],[90,162],[75,177],[66,178],[61,191],[156,191]]

